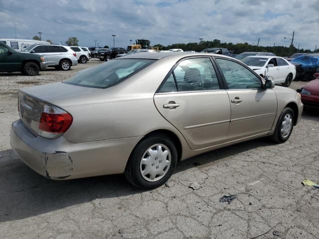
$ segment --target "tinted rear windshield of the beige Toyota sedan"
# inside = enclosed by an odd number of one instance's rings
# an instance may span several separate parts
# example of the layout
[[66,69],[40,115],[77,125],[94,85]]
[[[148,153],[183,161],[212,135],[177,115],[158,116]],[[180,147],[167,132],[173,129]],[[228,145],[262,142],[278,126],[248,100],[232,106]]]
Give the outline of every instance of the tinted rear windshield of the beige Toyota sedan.
[[104,89],[124,81],[154,61],[149,59],[114,59],[83,70],[63,83]]

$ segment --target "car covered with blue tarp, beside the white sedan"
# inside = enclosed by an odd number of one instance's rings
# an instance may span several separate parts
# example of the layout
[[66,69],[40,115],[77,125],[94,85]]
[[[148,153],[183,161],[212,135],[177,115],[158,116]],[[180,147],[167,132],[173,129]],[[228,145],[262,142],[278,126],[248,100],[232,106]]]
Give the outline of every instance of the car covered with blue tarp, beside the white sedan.
[[319,54],[306,54],[290,61],[296,66],[298,80],[312,80],[313,75],[319,72]]

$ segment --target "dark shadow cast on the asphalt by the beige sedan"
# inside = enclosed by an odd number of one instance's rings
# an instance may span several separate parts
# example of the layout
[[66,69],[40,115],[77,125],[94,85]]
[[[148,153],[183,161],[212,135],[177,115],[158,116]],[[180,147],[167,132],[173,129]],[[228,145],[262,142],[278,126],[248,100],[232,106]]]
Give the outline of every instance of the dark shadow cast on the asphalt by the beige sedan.
[[[273,145],[267,139],[243,142],[207,152],[179,162],[175,173],[209,165],[246,150]],[[66,181],[54,181],[28,168],[14,152],[0,151],[0,222],[20,220],[96,198],[125,197],[142,193],[121,175],[107,175]]]

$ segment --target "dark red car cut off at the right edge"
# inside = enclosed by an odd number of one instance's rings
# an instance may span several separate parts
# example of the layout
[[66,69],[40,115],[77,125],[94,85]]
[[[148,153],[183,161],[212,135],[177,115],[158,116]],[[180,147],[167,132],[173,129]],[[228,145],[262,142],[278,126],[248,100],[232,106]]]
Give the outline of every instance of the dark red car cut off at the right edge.
[[297,92],[301,94],[301,101],[305,108],[319,109],[319,73],[315,73],[315,80],[306,84]]

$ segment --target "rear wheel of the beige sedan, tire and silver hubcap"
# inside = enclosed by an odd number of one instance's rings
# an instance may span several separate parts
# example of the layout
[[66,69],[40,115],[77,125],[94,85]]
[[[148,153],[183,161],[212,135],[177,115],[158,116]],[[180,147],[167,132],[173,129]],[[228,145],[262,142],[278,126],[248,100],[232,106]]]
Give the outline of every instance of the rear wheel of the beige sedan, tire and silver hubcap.
[[124,173],[131,184],[139,189],[149,190],[163,185],[172,175],[176,163],[175,144],[165,134],[157,133],[138,143]]

